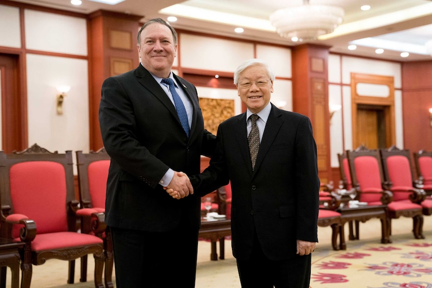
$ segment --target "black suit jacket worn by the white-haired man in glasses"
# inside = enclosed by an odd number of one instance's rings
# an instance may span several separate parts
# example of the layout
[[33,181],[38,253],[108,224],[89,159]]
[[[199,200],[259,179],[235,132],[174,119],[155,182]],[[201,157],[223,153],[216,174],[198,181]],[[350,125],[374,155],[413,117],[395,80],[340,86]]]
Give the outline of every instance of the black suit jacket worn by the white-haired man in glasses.
[[210,166],[191,182],[203,195],[231,180],[234,256],[248,259],[255,230],[273,260],[294,257],[297,239],[318,241],[319,179],[309,118],[272,105],[254,170],[246,113],[223,122],[217,137]]

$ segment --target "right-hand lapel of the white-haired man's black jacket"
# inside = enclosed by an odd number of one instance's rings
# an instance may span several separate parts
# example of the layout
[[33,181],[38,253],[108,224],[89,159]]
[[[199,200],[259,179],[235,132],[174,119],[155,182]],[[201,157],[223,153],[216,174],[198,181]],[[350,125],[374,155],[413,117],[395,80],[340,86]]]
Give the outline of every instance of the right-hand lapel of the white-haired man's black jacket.
[[[246,121],[246,120],[245,120]],[[272,110],[267,119],[266,128],[264,130],[263,139],[261,140],[260,150],[258,151],[257,161],[255,162],[255,169],[253,175],[260,168],[264,157],[269,151],[272,143],[278,135],[279,129],[284,122],[281,111],[272,104]]]

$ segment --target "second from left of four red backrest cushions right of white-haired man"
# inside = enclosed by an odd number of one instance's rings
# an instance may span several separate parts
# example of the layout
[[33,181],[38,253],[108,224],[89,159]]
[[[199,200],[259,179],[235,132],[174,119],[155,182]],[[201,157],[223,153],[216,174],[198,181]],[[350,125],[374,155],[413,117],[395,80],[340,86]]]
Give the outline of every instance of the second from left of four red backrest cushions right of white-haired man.
[[[355,175],[357,177],[360,190],[382,189],[381,176],[378,160],[373,156],[359,156],[354,159]],[[380,201],[380,193],[362,193],[361,202]]]

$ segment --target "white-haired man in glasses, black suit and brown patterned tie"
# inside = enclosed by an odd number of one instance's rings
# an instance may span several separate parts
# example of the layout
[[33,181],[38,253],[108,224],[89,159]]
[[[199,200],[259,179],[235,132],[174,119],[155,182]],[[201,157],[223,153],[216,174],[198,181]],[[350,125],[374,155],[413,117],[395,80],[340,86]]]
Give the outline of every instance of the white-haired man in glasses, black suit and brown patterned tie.
[[204,195],[231,180],[232,246],[243,288],[308,288],[318,241],[316,144],[308,117],[270,103],[274,79],[258,59],[238,67],[234,84],[248,109],[219,126],[210,166],[190,181]]

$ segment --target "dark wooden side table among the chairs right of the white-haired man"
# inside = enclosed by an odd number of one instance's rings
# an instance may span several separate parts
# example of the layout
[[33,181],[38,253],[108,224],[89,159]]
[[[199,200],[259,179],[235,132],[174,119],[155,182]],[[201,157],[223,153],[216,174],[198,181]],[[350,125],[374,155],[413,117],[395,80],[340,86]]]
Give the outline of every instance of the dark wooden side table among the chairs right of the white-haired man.
[[387,205],[371,205],[371,206],[359,206],[359,207],[349,207],[344,205],[339,207],[336,211],[341,214],[341,225],[339,230],[340,243],[339,248],[341,250],[346,249],[345,234],[344,234],[344,224],[346,222],[355,221],[355,234],[350,229],[350,239],[358,239],[358,222],[366,222],[371,218],[379,218],[381,220],[381,243],[390,243],[390,231],[388,229],[387,222]]

